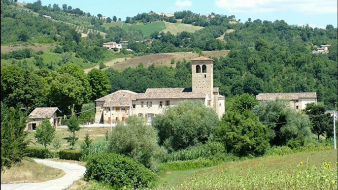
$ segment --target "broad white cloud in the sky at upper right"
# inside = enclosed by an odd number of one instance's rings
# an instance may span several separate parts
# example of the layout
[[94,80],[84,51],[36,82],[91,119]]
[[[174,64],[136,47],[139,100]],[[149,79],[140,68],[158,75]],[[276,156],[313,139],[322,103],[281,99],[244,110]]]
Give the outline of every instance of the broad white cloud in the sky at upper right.
[[337,14],[337,0],[215,0],[216,6],[234,12],[259,13],[294,10],[306,14]]

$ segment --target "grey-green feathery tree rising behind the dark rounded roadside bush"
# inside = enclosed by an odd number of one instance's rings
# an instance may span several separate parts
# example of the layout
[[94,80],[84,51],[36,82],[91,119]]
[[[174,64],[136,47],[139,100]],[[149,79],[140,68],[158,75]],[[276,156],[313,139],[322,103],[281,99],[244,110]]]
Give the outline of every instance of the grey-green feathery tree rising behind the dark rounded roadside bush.
[[131,116],[126,125],[118,123],[109,141],[110,152],[129,156],[152,171],[158,169],[158,159],[165,150],[158,145],[154,127],[146,125],[144,118]]

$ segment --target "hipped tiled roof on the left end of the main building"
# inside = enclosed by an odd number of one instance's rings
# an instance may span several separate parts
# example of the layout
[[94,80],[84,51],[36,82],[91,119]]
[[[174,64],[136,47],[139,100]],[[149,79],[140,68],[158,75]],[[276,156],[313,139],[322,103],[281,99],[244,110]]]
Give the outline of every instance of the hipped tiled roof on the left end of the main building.
[[95,101],[104,101],[103,107],[126,107],[132,105],[132,100],[135,99],[136,95],[137,93],[132,91],[119,90]]

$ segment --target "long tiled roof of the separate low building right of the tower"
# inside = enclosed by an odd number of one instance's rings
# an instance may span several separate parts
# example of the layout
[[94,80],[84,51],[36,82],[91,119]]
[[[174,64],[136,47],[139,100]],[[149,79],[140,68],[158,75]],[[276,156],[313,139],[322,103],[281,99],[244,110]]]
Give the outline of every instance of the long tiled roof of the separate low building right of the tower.
[[317,93],[272,93],[272,94],[258,94],[257,100],[275,100],[288,99],[297,100],[299,98],[317,98]]

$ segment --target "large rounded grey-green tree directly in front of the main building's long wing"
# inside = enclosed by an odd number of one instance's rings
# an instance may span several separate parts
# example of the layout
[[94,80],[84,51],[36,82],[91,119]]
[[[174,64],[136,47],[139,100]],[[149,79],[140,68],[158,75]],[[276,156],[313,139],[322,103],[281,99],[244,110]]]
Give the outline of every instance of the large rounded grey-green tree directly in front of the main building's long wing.
[[183,101],[157,115],[152,126],[158,130],[160,145],[172,152],[205,143],[218,123],[216,113],[202,102]]

